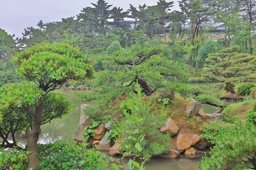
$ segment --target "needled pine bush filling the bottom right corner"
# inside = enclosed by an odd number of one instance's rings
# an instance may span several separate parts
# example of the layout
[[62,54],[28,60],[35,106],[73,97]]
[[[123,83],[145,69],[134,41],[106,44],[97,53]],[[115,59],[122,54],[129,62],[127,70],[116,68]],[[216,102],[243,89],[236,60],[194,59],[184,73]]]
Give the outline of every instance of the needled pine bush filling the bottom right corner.
[[200,170],[242,170],[256,167],[256,127],[247,121],[235,128],[226,127],[211,149],[211,157],[203,158]]

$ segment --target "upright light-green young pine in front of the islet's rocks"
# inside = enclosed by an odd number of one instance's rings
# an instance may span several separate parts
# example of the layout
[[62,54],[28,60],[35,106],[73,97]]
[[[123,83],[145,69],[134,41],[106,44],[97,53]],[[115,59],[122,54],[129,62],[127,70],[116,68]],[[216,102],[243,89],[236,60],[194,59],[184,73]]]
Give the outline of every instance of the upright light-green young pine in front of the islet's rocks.
[[[152,99],[145,101],[145,95],[137,85],[138,94],[132,94],[134,102],[128,102],[130,112],[123,110],[123,116],[119,122],[120,134],[124,142],[120,142],[122,149],[128,153],[131,151],[139,157],[150,157],[170,151],[169,133],[159,133],[159,129],[167,120],[167,111],[162,109],[161,113],[151,111]],[[167,108],[168,109],[168,108]],[[128,146],[128,147],[126,147]],[[141,148],[140,150],[137,150]]]

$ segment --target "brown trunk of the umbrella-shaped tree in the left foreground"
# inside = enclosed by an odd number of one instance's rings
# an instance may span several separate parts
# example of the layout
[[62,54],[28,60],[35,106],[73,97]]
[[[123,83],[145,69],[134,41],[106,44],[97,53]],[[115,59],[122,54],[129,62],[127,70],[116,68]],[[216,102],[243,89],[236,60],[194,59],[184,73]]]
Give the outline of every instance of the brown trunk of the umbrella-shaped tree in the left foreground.
[[44,101],[40,100],[40,104],[35,107],[35,116],[32,122],[32,129],[31,131],[29,131],[29,128],[26,130],[26,133],[29,135],[27,139],[28,150],[32,152],[29,154],[29,168],[33,168],[33,170],[38,170],[39,167],[37,142],[42,122],[43,106]]

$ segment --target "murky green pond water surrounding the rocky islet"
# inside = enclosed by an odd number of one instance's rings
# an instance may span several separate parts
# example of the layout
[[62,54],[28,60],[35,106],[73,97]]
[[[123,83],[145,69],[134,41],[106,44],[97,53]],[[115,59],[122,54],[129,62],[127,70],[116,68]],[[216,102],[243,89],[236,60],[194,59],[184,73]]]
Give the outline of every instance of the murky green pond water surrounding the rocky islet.
[[[193,84],[192,86],[199,86],[205,91],[210,91],[212,84]],[[62,89],[67,95],[67,100],[74,105],[72,111],[62,119],[54,119],[49,124],[42,125],[42,130],[38,139],[41,144],[47,144],[55,142],[56,140],[72,140],[73,133],[77,129],[80,119],[80,105],[79,98],[76,97],[74,91],[68,91]],[[221,93],[221,92],[218,92]],[[218,94],[215,94],[216,96]],[[228,104],[228,103],[226,103]],[[213,113],[218,108],[211,105],[203,105],[203,111],[205,113]],[[26,139],[20,139],[22,144],[26,144]],[[146,162],[146,170],[197,170],[199,158],[186,158],[181,157],[178,159],[166,159],[166,158],[154,158],[151,161]]]

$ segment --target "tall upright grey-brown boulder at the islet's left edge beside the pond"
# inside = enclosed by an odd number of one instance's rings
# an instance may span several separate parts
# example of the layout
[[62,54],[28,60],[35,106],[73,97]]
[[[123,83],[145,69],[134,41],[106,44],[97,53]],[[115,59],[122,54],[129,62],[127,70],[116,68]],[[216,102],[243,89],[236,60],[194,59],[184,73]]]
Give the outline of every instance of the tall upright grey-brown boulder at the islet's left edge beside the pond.
[[83,111],[87,106],[92,107],[92,104],[82,104],[80,106],[80,122],[77,130],[73,134],[73,139],[77,142],[88,142],[88,140],[85,140],[84,137],[82,137],[82,134],[84,134],[84,127],[91,126],[90,116],[86,116]]

